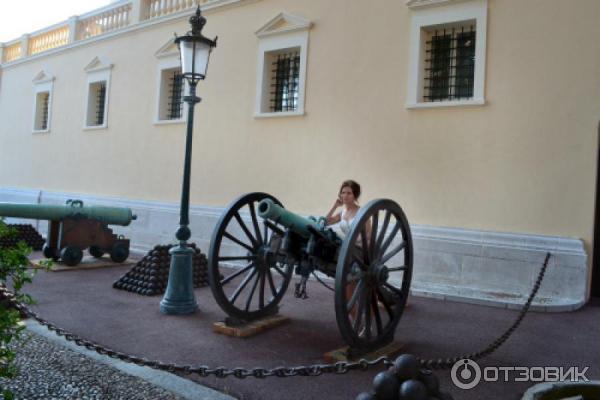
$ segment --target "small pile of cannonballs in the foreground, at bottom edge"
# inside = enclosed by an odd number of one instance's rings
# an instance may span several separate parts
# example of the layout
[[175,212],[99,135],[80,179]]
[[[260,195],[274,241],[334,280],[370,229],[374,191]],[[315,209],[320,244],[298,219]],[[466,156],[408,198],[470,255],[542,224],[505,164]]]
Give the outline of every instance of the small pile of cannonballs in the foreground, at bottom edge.
[[387,371],[375,375],[373,391],[356,400],[453,400],[440,391],[440,382],[431,370],[422,369],[417,357],[403,354]]

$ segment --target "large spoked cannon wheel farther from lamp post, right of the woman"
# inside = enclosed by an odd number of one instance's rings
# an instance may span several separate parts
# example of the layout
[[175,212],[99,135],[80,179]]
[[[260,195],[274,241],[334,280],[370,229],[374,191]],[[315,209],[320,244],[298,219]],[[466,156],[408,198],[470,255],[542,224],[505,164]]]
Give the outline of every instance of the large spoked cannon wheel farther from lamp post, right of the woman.
[[413,268],[410,226],[387,199],[361,207],[340,249],[335,277],[336,320],[344,340],[371,350],[393,340]]

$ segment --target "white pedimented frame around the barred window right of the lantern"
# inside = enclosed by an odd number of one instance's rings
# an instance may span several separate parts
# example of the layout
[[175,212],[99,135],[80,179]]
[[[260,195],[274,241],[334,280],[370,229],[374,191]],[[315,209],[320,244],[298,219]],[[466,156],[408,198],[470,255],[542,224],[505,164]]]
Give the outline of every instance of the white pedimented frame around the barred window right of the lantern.
[[[255,32],[259,40],[258,68],[256,70],[255,117],[266,118],[304,115],[308,33],[311,27],[312,22],[306,18],[281,12]],[[298,108],[288,112],[271,112],[269,108],[270,66],[267,58],[269,54],[289,49],[298,49],[300,53]]]

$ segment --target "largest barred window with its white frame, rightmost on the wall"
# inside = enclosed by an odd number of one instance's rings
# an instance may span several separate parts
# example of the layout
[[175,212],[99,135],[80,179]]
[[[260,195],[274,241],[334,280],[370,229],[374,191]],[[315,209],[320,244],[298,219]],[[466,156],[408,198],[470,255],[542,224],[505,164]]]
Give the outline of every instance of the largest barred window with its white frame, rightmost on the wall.
[[409,0],[407,108],[485,103],[487,0]]

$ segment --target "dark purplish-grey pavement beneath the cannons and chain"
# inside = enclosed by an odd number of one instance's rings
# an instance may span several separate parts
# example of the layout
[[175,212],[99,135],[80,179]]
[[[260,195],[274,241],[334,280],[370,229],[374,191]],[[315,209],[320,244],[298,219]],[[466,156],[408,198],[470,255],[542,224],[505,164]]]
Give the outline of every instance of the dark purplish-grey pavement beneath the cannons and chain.
[[[276,367],[322,363],[322,355],[343,346],[335,323],[333,296],[309,283],[307,300],[283,300],[281,313],[291,321],[247,339],[212,332],[223,318],[209,288],[195,291],[200,311],[190,316],[159,312],[160,296],[115,290],[112,282],[128,267],[42,272],[28,291],[34,310],[49,321],[115,350],[180,364],[211,367]],[[428,298],[411,298],[396,337],[406,352],[446,358],[478,351],[510,326],[517,312]],[[530,313],[521,327],[482,366],[589,366],[587,377],[600,378],[600,306],[571,313]],[[199,378],[205,387],[239,399],[354,399],[370,388],[376,370],[316,378]],[[439,371],[442,389],[458,399],[520,399],[534,383],[482,383],[464,391],[453,386],[449,371]],[[200,389],[198,389],[200,390]],[[108,397],[107,397],[108,398]]]

